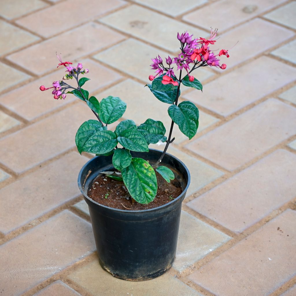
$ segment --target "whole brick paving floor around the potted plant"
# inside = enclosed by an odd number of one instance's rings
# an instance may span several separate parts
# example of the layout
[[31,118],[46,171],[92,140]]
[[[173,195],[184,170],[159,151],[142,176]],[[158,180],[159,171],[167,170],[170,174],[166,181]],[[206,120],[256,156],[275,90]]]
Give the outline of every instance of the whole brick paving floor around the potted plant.
[[[0,295],[296,295],[296,1],[2,0],[0,7]],[[77,175],[75,132],[88,108],[41,93],[64,72],[55,52],[90,69],[88,89],[128,103],[137,124],[163,118],[150,57],[175,55],[176,32],[218,27],[227,69],[194,74],[203,93],[192,141],[168,152],[192,175],[173,267],[145,282],[99,266]],[[141,70],[141,67],[143,70]],[[134,104],[134,107],[132,107]],[[114,125],[113,125],[114,126]],[[111,127],[112,128],[112,125]],[[163,145],[152,145],[163,148]]]

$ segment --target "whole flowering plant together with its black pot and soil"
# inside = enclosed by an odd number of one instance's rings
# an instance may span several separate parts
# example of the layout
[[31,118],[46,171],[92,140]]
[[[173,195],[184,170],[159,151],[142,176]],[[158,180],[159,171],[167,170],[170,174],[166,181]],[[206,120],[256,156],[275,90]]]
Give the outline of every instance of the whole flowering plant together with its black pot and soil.
[[[89,79],[81,77],[89,72],[81,63],[73,67],[62,62],[67,74],[52,87],[54,99],[73,94],[85,101],[96,119],[85,121],[77,131],[78,152],[94,153],[81,169],[78,185],[89,205],[91,223],[102,267],[113,276],[133,281],[151,279],[168,270],[175,258],[181,203],[189,186],[189,171],[180,160],[166,153],[173,142],[172,130],[177,124],[189,139],[196,134],[199,111],[192,102],[181,102],[180,86],[202,90],[202,84],[192,71],[199,67],[219,64],[218,56],[229,54],[221,50],[215,55],[210,44],[215,43],[217,31],[209,39],[196,38],[187,32],[178,33],[181,53],[166,65],[160,56],[152,59],[155,75],[147,85],[161,102],[169,104],[172,119],[168,136],[161,121],[148,118],[137,126],[133,120],[122,120],[110,131],[107,126],[119,120],[126,110],[120,98],[108,96],[100,102],[82,88]],[[176,64],[178,75],[173,65]],[[176,70],[175,70],[176,71]],[[185,75],[182,73],[185,73]],[[77,84],[72,86],[72,79]],[[163,151],[149,149],[149,144],[166,142]]]

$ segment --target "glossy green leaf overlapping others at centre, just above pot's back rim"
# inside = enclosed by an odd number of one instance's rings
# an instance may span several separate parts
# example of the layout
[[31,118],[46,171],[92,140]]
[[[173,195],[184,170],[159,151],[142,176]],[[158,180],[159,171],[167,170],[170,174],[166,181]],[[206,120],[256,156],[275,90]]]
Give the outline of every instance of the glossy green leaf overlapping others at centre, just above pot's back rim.
[[118,142],[126,149],[138,152],[148,152],[148,144],[144,136],[136,130],[128,129],[117,138]]

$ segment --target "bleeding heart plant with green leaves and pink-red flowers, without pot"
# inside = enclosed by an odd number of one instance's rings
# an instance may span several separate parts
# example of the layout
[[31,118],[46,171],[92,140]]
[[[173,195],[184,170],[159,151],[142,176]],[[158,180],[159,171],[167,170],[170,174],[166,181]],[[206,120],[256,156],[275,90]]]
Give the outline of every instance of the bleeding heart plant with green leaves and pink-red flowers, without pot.
[[[226,57],[229,57],[228,51],[222,49],[219,54],[215,55],[209,48],[210,44],[215,44],[216,41],[213,39],[216,34],[217,30],[211,30],[209,39],[192,39],[193,35],[189,36],[187,32],[181,35],[178,33],[177,38],[181,43],[181,53],[178,54],[178,57],[172,59],[168,56],[165,59],[167,67],[163,65],[160,56],[152,59],[153,64],[151,67],[156,70],[156,74],[155,76],[149,76],[152,84],[147,86],[157,99],[170,104],[168,114],[172,119],[172,123],[168,138],[165,136],[166,130],[163,123],[151,118],[139,126],[133,120],[123,120],[116,126],[114,132],[107,130],[108,124],[114,123],[122,117],[126,110],[126,103],[113,96],[108,96],[102,99],[101,102],[94,96],[89,97],[89,92],[82,89],[82,86],[89,78],[79,78],[79,75],[86,74],[89,70],[82,70],[81,63],[78,63],[77,67],[72,67],[71,62],[62,62],[62,58],[57,56],[60,62],[58,67],[64,66],[68,73],[62,80],[54,81],[52,87],[40,86],[41,91],[53,89],[54,99],[65,99],[66,94],[73,94],[86,102],[97,120],[85,121],[78,129],[75,137],[78,152],[84,151],[103,156],[113,155],[113,166],[121,172],[121,176],[110,175],[108,177],[123,181],[131,197],[136,202],[147,204],[154,200],[157,193],[155,170],[167,182],[175,178],[172,170],[165,166],[159,166],[169,144],[175,139],[171,139],[174,123],[189,139],[192,139],[197,132],[199,111],[192,102],[183,101],[178,104],[180,86],[182,83],[184,86],[202,91],[200,81],[190,75],[192,71],[205,66],[226,68],[225,64],[220,66],[218,56],[226,55]],[[177,65],[179,78],[174,73],[173,64]],[[182,78],[182,71],[184,72],[184,70],[186,75]],[[77,83],[77,87],[73,87],[66,82],[73,78]],[[166,145],[159,160],[153,166],[142,158],[132,157],[130,151],[148,152],[148,145],[156,144],[158,141],[166,142]],[[118,147],[118,144],[122,148]]]

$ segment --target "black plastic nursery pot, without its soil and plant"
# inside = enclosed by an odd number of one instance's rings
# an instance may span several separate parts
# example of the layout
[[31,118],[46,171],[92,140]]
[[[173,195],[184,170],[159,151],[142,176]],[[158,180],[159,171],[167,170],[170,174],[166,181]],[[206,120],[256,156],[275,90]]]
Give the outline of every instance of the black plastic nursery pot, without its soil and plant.
[[[153,164],[161,153],[150,149],[132,155]],[[167,271],[175,259],[181,205],[190,174],[184,163],[168,153],[161,164],[174,171],[183,191],[171,202],[148,210],[114,209],[87,196],[99,173],[114,169],[112,155],[94,157],[79,173],[78,186],[89,206],[99,262],[117,278],[129,281],[153,279]]]

